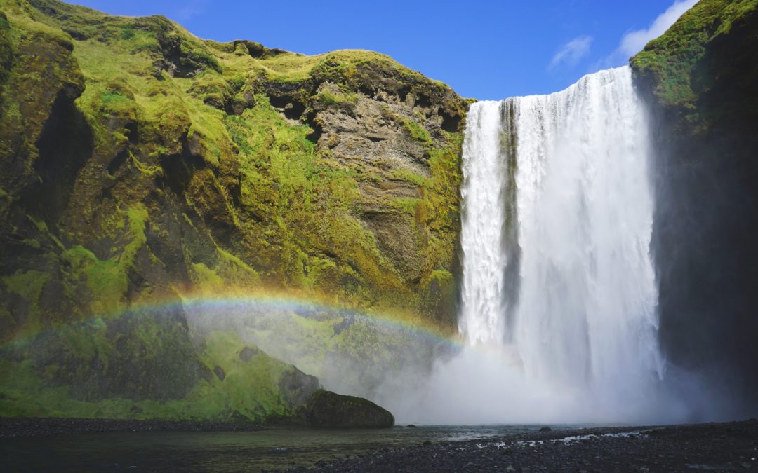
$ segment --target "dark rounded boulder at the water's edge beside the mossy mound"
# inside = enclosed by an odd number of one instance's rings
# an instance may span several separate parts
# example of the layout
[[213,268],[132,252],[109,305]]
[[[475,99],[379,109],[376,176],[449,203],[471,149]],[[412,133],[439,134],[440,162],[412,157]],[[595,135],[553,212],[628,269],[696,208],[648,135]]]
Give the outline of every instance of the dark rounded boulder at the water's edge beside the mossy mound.
[[362,397],[345,396],[323,389],[305,405],[305,422],[311,427],[392,427],[390,411]]

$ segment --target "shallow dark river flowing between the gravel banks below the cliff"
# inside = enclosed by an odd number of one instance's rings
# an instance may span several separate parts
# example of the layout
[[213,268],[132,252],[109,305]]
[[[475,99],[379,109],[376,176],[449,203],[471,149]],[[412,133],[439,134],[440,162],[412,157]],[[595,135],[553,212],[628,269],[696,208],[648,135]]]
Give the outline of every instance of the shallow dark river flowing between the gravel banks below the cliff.
[[420,426],[376,430],[268,428],[258,432],[108,432],[0,441],[3,471],[260,471],[312,466],[366,450],[426,440],[534,431],[535,425]]

